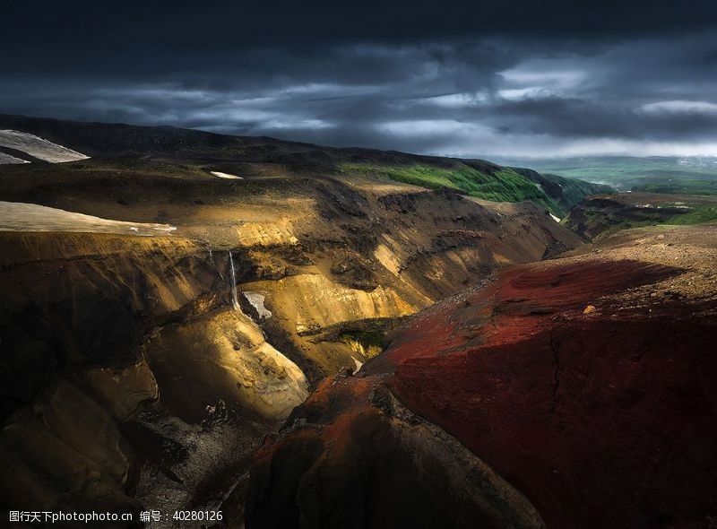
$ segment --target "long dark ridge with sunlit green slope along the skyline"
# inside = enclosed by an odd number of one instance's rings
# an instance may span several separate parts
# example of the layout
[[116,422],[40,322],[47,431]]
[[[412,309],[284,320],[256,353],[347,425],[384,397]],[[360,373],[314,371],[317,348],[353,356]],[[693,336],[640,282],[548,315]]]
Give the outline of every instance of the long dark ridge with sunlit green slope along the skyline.
[[22,130],[100,159],[180,163],[184,169],[252,177],[277,171],[295,176],[381,178],[430,189],[450,188],[494,202],[533,201],[557,216],[607,186],[513,169],[486,160],[395,151],[324,147],[268,137],[231,136],[168,126],[79,123],[0,115],[0,129]]

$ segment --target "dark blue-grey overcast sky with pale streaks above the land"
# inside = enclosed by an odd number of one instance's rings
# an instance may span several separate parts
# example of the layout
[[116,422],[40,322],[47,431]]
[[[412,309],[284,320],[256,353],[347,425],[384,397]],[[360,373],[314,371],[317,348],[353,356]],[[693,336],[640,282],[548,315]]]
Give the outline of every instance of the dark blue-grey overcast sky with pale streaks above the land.
[[0,112],[459,156],[717,155],[717,2],[0,0]]

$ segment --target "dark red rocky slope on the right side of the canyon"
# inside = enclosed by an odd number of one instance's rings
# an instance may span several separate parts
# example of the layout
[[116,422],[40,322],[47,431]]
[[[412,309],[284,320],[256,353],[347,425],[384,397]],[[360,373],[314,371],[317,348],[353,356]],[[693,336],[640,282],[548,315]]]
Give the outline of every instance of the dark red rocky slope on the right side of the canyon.
[[247,527],[709,526],[715,235],[623,231],[410,318],[258,452]]

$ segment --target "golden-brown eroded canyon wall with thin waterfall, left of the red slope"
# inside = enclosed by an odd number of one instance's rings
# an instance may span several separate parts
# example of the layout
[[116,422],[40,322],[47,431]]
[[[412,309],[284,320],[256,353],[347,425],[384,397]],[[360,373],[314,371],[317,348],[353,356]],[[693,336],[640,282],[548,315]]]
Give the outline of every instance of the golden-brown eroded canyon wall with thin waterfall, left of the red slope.
[[321,379],[498,267],[581,244],[530,203],[274,161],[247,174],[215,167],[234,139],[53,123],[29,132],[91,160],[0,174],[8,507],[240,519],[249,456]]

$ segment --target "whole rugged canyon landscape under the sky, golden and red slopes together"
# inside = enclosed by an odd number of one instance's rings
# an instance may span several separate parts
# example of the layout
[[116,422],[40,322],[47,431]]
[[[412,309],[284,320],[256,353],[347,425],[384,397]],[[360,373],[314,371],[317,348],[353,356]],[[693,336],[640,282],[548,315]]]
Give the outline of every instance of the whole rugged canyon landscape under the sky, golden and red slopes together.
[[713,524],[711,197],[30,117],[0,154],[4,509]]

